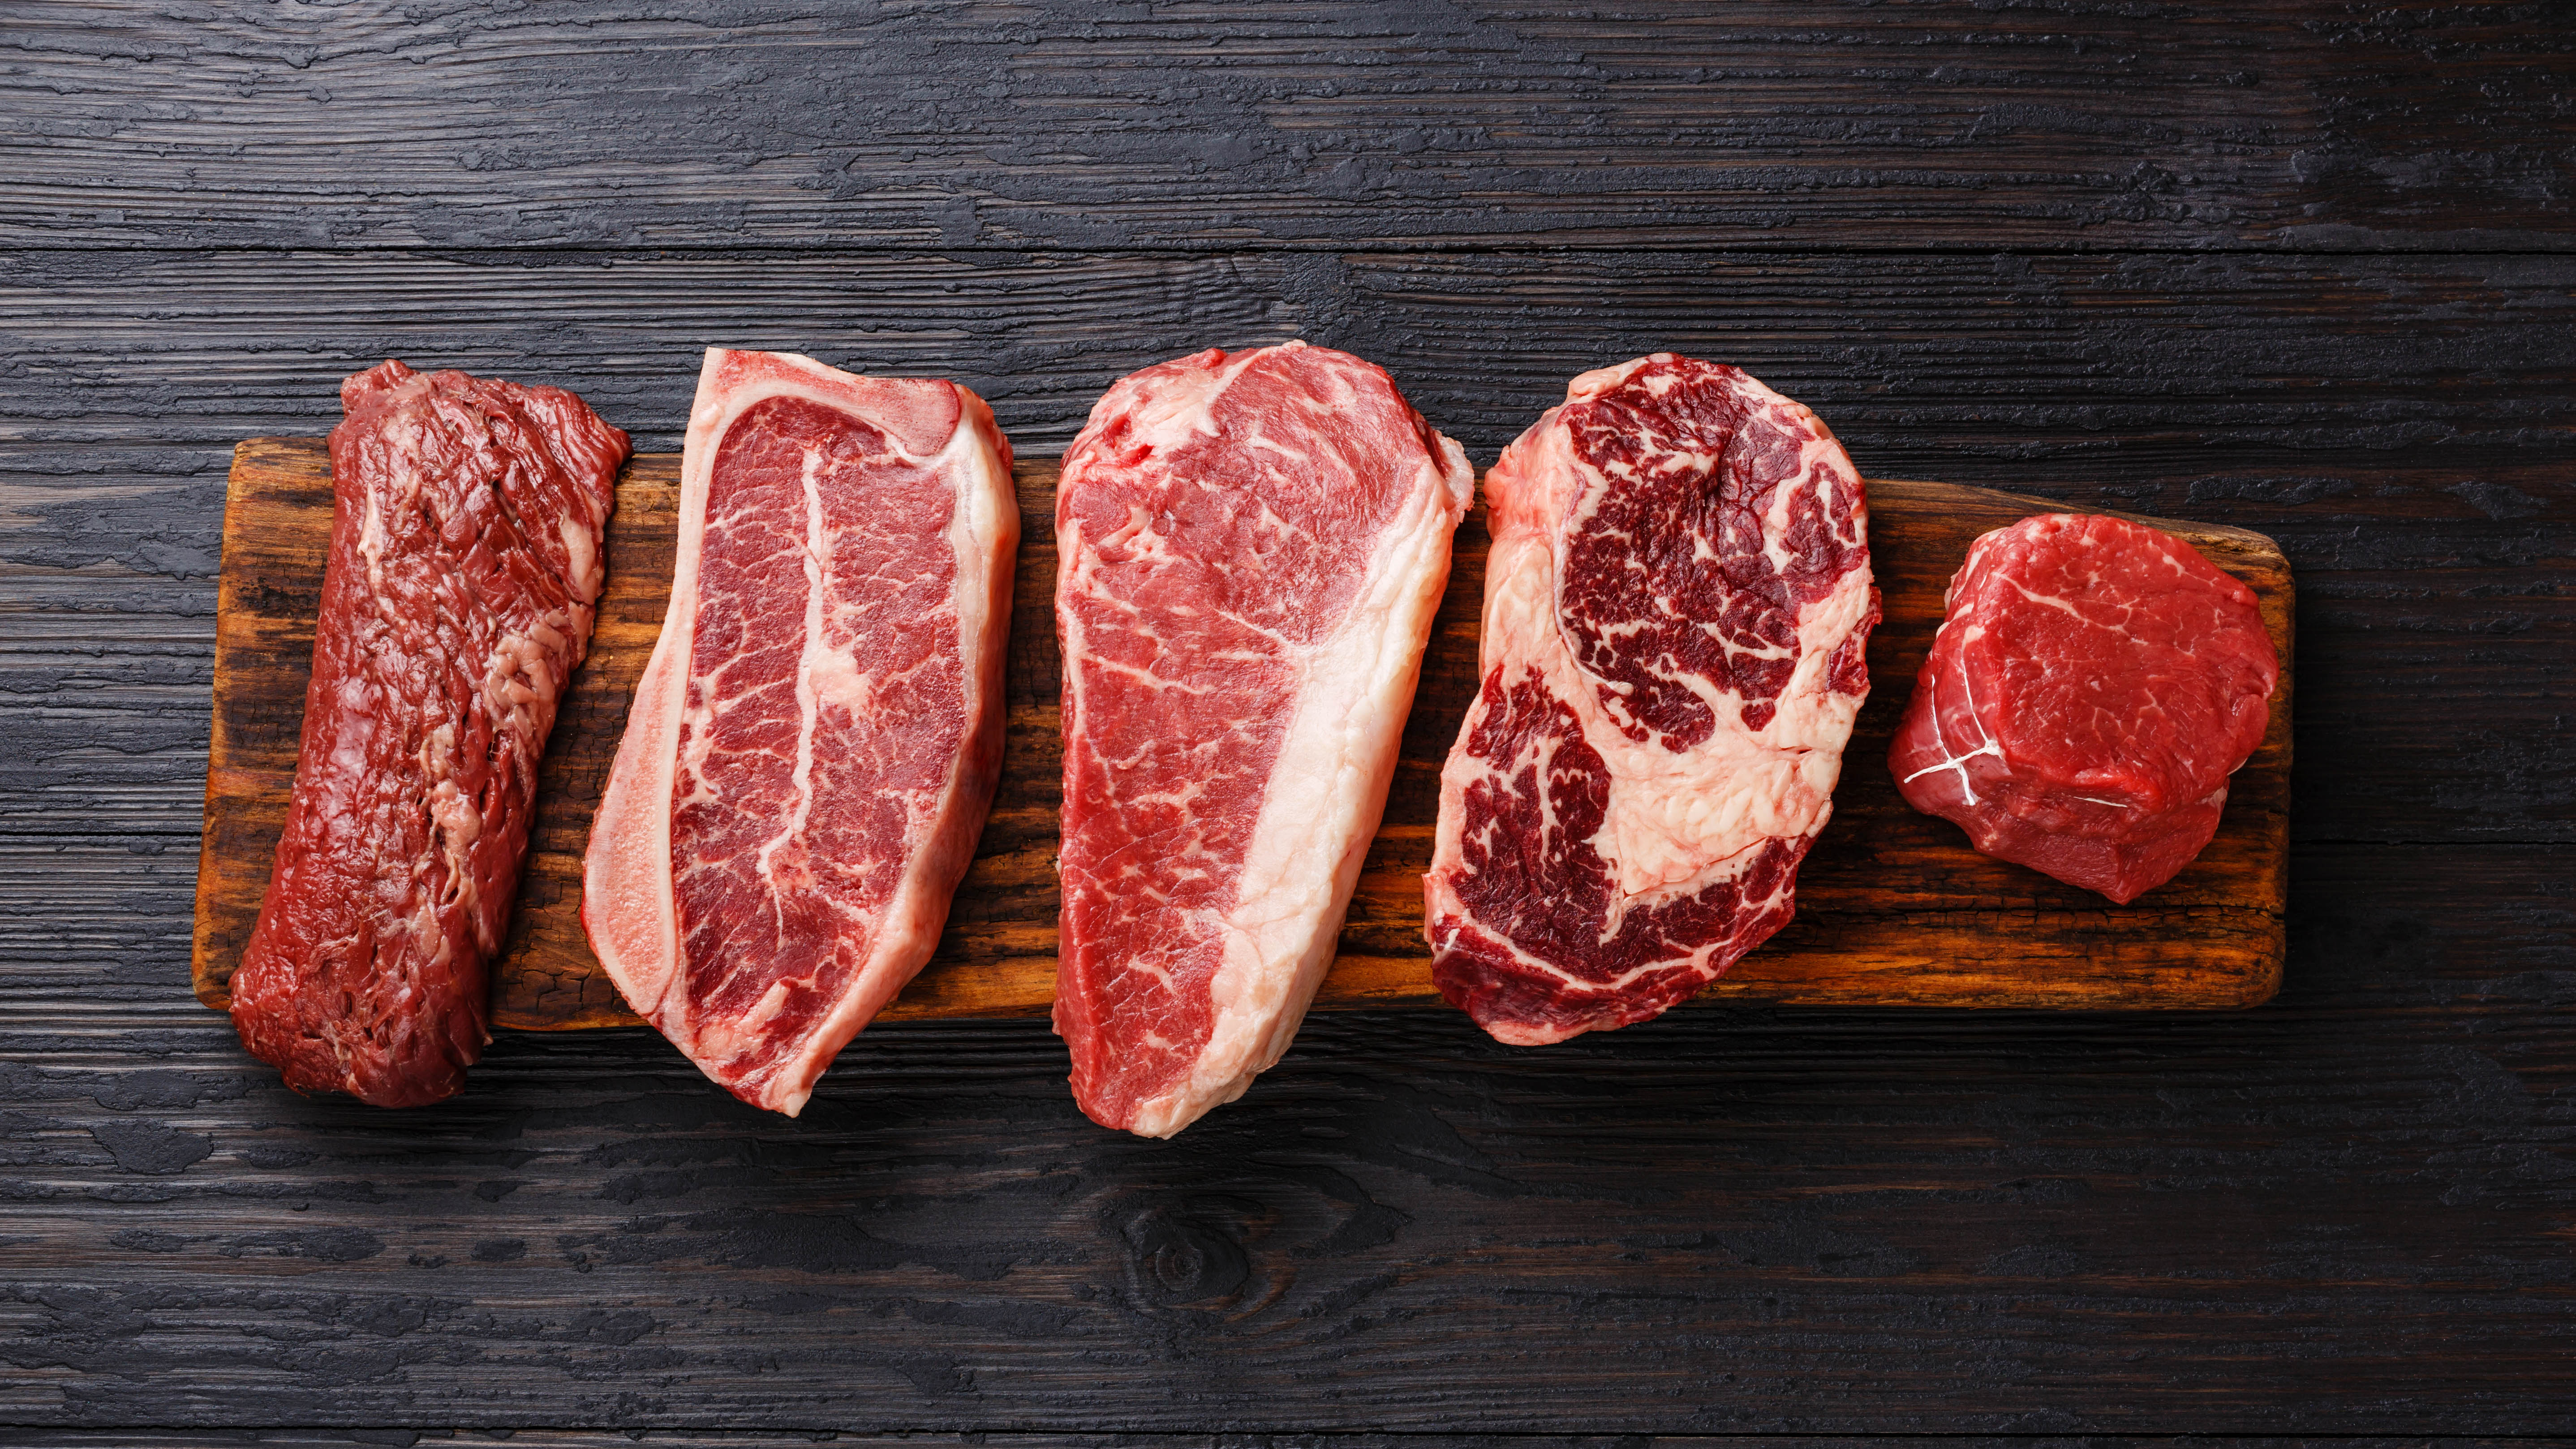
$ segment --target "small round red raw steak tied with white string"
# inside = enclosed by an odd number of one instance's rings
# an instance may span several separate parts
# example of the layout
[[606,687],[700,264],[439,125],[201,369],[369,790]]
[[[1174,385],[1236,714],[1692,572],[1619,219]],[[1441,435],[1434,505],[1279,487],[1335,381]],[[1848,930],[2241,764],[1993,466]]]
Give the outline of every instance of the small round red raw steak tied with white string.
[[2280,677],[2254,589],[2169,533],[2053,512],[1978,538],[1947,610],[1888,749],[1906,803],[2123,903],[2210,844]]

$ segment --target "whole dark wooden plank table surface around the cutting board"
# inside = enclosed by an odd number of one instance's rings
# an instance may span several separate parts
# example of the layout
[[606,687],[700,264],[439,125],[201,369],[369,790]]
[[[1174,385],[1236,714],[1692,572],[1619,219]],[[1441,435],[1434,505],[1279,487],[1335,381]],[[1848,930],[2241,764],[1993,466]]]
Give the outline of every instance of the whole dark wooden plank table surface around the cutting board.
[[[0,1444],[2576,1431],[2571,36],[8,5]],[[1043,1022],[868,1032],[801,1122],[641,1032],[384,1114],[188,996],[224,463],[343,373],[672,448],[703,345],[791,347],[1051,453],[1113,376],[1288,335],[1479,461],[1680,347],[1878,476],[2280,538],[2287,988],[1546,1053],[1324,1017],[1175,1143],[1082,1122]]]

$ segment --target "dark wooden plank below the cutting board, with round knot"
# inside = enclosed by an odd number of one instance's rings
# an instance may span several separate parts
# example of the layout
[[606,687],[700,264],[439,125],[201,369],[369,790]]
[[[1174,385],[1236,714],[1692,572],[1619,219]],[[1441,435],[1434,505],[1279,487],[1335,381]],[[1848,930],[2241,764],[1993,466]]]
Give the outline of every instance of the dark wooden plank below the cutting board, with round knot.
[[175,993],[18,1011],[0,1421],[2576,1431],[2576,852],[2298,891],[2262,1011],[1340,1011],[1170,1143],[1043,1022],[881,1024],[783,1122],[641,1029],[394,1114]]

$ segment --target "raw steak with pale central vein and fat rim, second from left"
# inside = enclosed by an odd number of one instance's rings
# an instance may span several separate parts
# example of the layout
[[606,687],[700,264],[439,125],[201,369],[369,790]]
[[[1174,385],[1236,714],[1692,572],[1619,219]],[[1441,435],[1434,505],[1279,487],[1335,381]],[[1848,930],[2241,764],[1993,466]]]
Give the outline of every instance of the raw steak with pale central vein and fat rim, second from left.
[[1002,775],[1020,512],[976,394],[708,350],[670,613],[582,927],[626,1001],[793,1117],[930,960]]

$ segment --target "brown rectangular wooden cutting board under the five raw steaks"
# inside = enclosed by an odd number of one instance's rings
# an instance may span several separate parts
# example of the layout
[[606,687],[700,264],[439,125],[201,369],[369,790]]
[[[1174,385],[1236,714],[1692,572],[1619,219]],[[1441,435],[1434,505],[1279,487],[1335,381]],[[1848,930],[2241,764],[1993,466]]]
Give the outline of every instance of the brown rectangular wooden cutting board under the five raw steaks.
[[[621,1027],[626,1011],[582,939],[582,844],[626,703],[662,628],[677,453],[647,453],[618,484],[598,633],[554,726],[538,780],[528,878],[495,970],[492,1019],[520,1029]],[[1020,574],[1010,631],[1010,741],[974,870],[938,957],[884,1011],[1033,1017],[1056,988],[1056,461],[1023,458]],[[2053,504],[1947,484],[1870,481],[1870,556],[1886,623],[1870,636],[1873,692],[1834,793],[1834,821],[1798,875],[1798,919],[1700,999],[1801,1006],[2254,1006],[2280,988],[2290,844],[2290,564],[2241,528],[2143,520],[2187,538],[2262,600],[2280,692],[2262,749],[2228,790],[2218,839],[2130,906],[1986,860],[1958,826],[1919,816],[1888,775],[1888,734],[1942,615],[1968,540]],[[296,775],[314,605],[330,546],[330,453],[319,438],[255,438],[232,458],[214,643],[214,754],[196,883],[196,993],[224,1009],[250,939]],[[1386,824],[1350,901],[1319,1009],[1440,1006],[1422,942],[1440,762],[1476,692],[1484,510],[1458,530],[1455,569]]]

